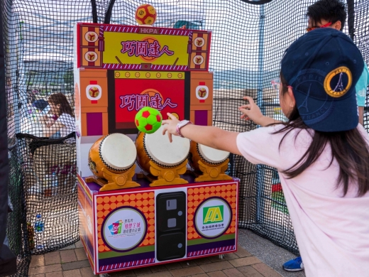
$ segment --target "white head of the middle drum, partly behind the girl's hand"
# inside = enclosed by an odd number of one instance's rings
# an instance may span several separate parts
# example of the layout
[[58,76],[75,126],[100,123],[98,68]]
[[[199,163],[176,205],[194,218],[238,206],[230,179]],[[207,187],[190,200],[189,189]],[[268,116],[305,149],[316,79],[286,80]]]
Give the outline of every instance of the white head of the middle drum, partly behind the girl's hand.
[[189,139],[172,136],[170,143],[167,134],[163,136],[163,126],[153,134],[145,134],[145,150],[150,158],[160,165],[175,166],[184,161],[189,153]]

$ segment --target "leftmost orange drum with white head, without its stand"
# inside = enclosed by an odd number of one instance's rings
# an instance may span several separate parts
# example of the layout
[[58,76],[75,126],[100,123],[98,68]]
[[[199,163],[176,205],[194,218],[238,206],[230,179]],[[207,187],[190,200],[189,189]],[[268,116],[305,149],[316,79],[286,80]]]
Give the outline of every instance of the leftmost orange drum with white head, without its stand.
[[109,134],[97,140],[89,150],[89,169],[104,179],[102,168],[111,173],[124,173],[136,162],[137,151],[133,141],[123,134]]

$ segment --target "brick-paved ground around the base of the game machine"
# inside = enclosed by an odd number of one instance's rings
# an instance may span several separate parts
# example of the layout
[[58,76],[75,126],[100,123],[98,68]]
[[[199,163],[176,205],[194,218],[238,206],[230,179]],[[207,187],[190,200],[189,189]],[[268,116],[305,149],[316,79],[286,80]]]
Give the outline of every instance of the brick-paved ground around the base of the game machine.
[[[84,254],[81,241],[60,251],[32,256],[28,276],[33,277],[89,277],[95,276]],[[235,254],[228,254],[223,260],[218,256],[149,266],[111,273],[112,277],[280,277],[273,270],[238,245]]]

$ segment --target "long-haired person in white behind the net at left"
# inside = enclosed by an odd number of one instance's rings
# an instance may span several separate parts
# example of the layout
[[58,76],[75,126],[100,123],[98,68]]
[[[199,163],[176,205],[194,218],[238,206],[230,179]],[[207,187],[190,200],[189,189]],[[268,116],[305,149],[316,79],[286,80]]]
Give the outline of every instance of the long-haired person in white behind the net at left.
[[50,114],[45,115],[43,136],[55,138],[59,131],[60,137],[65,137],[75,131],[75,115],[65,95],[60,92],[51,94],[48,104]]

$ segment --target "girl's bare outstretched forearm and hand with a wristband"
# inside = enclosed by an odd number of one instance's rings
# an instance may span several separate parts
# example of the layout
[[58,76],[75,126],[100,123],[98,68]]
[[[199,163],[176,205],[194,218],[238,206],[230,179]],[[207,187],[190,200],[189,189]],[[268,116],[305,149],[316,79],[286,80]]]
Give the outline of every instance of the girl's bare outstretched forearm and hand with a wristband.
[[[170,119],[163,120],[164,125],[163,135],[167,132],[170,142],[172,142],[172,135],[179,136],[177,133],[177,124],[180,122],[175,116],[167,113]],[[197,143],[216,148],[223,151],[228,151],[233,154],[241,155],[238,150],[236,139],[238,133],[224,131],[214,126],[199,126],[187,124],[180,129],[182,136]]]

